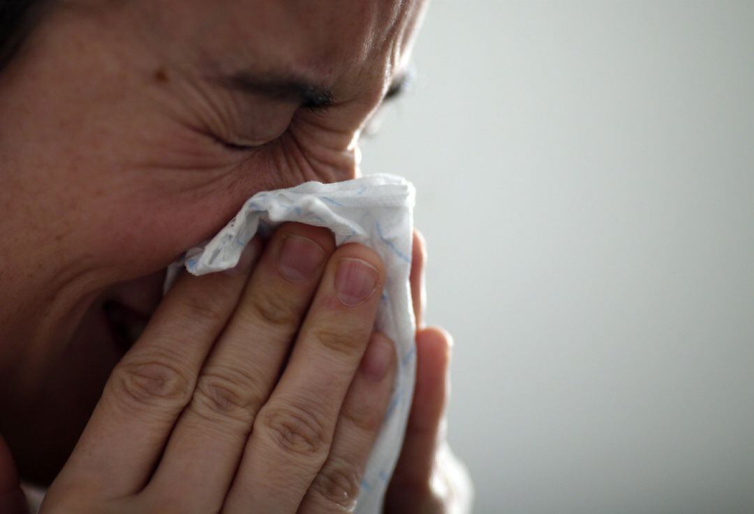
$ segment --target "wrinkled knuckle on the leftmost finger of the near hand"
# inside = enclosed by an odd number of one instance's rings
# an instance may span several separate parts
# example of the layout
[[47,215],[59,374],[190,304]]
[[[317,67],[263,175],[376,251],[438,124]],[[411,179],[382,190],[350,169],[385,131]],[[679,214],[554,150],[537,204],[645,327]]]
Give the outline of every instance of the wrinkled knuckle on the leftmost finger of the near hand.
[[121,362],[109,380],[116,399],[136,408],[180,410],[192,395],[192,380],[164,358]]

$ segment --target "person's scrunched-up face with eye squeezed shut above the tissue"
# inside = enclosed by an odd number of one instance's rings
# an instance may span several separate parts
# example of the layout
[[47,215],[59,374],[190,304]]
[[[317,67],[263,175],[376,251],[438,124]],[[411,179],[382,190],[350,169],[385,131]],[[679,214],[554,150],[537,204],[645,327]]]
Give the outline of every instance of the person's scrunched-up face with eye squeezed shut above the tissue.
[[40,307],[57,314],[38,333],[81,341],[78,364],[27,380],[65,381],[70,402],[89,405],[97,389],[81,392],[85,380],[106,375],[86,368],[89,355],[109,365],[119,355],[102,349],[97,295],[149,310],[161,277],[146,294],[134,281],[213,235],[250,195],[354,177],[360,131],[405,72],[424,4],[48,2],[0,72],[0,200],[28,205],[35,251],[57,256],[45,268],[55,305]]

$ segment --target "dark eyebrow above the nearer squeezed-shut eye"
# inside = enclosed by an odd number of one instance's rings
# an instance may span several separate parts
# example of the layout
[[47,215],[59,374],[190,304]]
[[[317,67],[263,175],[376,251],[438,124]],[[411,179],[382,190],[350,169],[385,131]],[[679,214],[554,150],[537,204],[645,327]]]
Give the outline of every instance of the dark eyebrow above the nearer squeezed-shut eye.
[[276,77],[238,72],[222,77],[220,82],[229,89],[299,103],[308,108],[326,108],[333,105],[333,93],[329,88],[296,76]]

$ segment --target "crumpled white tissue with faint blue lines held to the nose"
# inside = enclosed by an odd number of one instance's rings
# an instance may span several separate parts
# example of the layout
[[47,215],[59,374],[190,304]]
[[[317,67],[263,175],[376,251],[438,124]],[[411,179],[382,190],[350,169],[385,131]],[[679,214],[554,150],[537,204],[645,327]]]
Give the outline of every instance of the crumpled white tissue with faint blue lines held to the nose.
[[414,187],[401,177],[369,175],[345,182],[307,182],[290,189],[253,195],[224,229],[203,246],[187,251],[168,272],[166,288],[179,267],[194,275],[229,269],[257,231],[266,235],[285,221],[324,226],[336,244],[357,242],[385,263],[385,288],[375,327],[394,341],[398,372],[385,420],[361,482],[356,512],[379,512],[393,472],[413,394],[415,320],[409,271]]

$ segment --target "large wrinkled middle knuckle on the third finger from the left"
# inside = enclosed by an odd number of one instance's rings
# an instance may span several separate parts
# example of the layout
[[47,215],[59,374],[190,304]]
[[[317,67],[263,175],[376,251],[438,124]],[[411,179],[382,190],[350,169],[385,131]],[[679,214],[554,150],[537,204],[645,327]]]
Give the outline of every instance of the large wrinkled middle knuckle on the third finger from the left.
[[314,460],[325,456],[330,435],[319,414],[289,405],[262,409],[259,418],[262,431],[278,450]]

